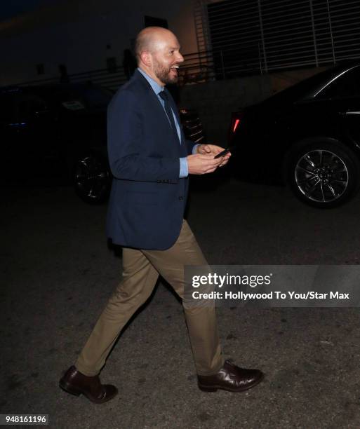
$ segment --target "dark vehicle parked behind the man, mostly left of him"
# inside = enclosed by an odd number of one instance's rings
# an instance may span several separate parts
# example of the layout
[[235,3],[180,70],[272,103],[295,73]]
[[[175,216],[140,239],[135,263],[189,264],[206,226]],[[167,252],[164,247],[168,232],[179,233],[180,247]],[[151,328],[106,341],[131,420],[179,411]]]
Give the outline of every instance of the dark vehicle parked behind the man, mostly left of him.
[[[1,184],[72,183],[88,203],[106,200],[107,105],[113,93],[91,83],[0,88]],[[199,116],[180,109],[187,138],[204,138]]]

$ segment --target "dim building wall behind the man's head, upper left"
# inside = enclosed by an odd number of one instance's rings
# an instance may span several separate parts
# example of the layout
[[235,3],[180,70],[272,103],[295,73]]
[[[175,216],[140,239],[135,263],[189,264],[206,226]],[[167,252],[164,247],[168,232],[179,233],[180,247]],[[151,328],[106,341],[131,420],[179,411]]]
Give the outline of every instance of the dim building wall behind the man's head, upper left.
[[[182,53],[196,52],[192,0],[63,0],[0,22],[0,86],[58,77],[59,64],[69,74],[105,69],[107,57],[121,65],[145,15],[168,20]],[[38,63],[45,74],[36,74]]]

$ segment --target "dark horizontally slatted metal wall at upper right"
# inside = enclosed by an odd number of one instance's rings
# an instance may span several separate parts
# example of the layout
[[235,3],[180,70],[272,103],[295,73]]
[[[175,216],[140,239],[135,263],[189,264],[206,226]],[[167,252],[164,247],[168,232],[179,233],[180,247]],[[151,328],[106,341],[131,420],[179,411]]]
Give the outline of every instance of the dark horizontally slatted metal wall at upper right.
[[359,0],[199,0],[195,14],[223,77],[360,57]]

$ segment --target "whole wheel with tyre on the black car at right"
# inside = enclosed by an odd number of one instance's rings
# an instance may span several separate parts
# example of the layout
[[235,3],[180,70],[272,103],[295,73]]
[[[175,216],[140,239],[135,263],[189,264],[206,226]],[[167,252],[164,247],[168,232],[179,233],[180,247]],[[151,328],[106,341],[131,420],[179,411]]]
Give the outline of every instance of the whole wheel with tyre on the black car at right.
[[359,161],[335,140],[300,144],[291,154],[288,182],[304,203],[318,208],[344,204],[359,187]]

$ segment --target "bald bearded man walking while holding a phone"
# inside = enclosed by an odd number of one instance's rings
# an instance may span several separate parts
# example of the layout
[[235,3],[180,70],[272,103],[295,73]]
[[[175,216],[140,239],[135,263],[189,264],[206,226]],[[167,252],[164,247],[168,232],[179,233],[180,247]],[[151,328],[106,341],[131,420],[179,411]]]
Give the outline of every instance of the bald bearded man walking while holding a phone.
[[[108,109],[109,163],[114,175],[107,234],[123,246],[123,274],[75,365],[60,380],[68,393],[96,403],[111,400],[115,386],[99,372],[121,329],[143,304],[161,275],[184,297],[184,266],[207,265],[183,219],[188,175],[225,165],[229,154],[212,144],[186,140],[166,83],[178,80],[183,61],[175,35],[147,27],[136,39],[138,69]],[[222,357],[215,306],[183,302],[201,390],[246,390],[262,380],[258,369],[241,369]]]

